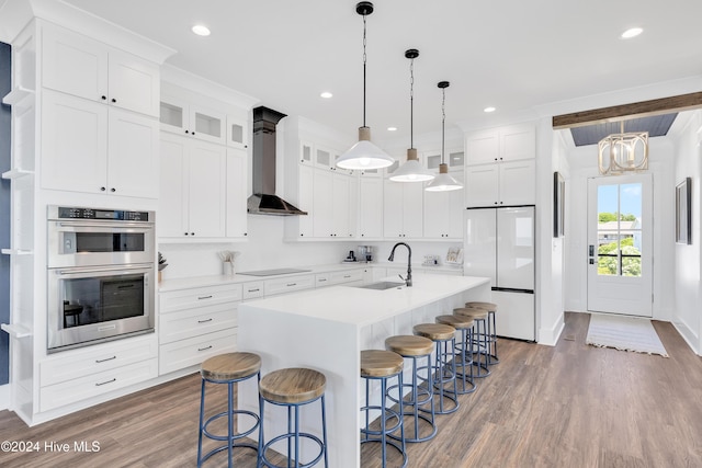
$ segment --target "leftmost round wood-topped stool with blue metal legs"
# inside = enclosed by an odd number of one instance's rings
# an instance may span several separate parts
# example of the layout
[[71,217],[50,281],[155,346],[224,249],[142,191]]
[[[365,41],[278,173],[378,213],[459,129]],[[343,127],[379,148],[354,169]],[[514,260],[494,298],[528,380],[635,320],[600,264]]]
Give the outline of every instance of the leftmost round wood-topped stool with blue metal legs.
[[[231,467],[231,452],[236,447],[246,447],[258,450],[258,445],[253,443],[237,442],[257,430],[261,419],[252,411],[234,409],[234,385],[244,380],[257,378],[261,379],[261,357],[253,353],[227,353],[210,357],[202,363],[200,374],[202,376],[202,386],[200,392],[200,436],[197,440],[197,466],[212,457],[214,454],[227,450],[229,456],[228,466]],[[226,384],[227,385],[227,411],[223,411],[205,421],[205,384]],[[216,435],[207,429],[211,423],[227,418],[227,435]],[[252,420],[252,424],[245,431],[235,432],[235,419],[237,425],[246,419]],[[215,441],[226,441],[226,444],[215,447],[204,456],[202,455],[202,436]]]

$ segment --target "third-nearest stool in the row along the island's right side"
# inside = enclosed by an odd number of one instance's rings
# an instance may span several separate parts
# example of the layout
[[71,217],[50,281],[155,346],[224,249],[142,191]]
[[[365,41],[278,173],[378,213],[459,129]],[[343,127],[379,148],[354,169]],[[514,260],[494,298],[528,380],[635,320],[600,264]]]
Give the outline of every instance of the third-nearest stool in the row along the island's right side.
[[[437,345],[433,367],[429,372],[434,375],[434,395],[439,397],[437,414],[449,414],[456,411],[458,403],[458,387],[456,384],[456,329],[444,323],[420,323],[412,328],[418,336],[427,338]],[[446,385],[453,386],[453,390],[446,390]],[[453,395],[453,396],[452,396]],[[453,406],[446,408],[445,401],[452,401]]]

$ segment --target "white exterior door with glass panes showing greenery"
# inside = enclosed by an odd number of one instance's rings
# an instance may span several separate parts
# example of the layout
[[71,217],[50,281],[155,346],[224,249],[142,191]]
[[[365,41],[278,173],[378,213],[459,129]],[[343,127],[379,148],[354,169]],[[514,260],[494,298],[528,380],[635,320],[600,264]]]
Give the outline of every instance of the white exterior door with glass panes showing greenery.
[[653,181],[588,180],[588,310],[653,316]]

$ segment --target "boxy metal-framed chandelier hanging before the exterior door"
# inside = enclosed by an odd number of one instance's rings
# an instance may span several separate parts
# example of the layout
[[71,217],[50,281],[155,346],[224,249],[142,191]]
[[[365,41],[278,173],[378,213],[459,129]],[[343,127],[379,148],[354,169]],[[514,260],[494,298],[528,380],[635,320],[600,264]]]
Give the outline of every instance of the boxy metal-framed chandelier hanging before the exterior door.
[[625,172],[639,172],[648,169],[648,132],[621,133],[609,135],[598,144],[598,167],[600,174],[618,175]]

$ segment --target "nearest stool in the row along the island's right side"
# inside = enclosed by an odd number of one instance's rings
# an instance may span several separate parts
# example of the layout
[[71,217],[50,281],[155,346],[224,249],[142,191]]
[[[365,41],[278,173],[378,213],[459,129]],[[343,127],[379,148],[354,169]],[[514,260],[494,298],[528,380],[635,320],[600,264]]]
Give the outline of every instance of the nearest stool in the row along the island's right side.
[[[361,411],[365,415],[365,426],[361,429],[363,438],[361,444],[367,442],[380,442],[381,454],[383,457],[383,468],[387,466],[387,446],[392,446],[401,455],[403,463],[400,468],[407,466],[407,453],[405,452],[405,414],[403,404],[398,404],[397,411],[386,408],[387,401],[387,383],[390,378],[397,378],[397,388],[403,388],[403,368],[405,361],[403,356],[392,351],[383,350],[364,350],[361,351],[361,377],[365,379],[365,406],[361,407]],[[371,404],[371,381],[381,381],[381,401],[378,404]],[[371,411],[380,411],[380,429],[371,429]],[[397,423],[388,426],[388,420],[395,419]],[[399,445],[388,440],[388,435],[400,432]],[[373,437],[371,437],[373,436]],[[361,466],[364,466],[363,454],[361,454]]]

